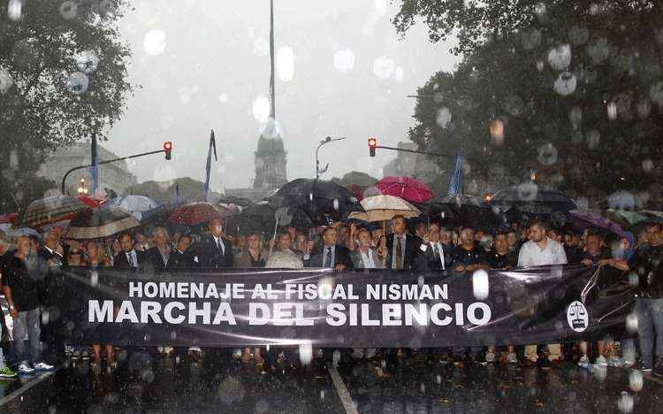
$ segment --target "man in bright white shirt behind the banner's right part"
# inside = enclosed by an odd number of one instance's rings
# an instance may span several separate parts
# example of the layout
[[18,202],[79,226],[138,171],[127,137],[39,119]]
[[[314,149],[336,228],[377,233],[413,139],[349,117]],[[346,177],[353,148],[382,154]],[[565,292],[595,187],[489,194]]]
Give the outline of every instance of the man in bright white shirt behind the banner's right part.
[[[548,227],[544,222],[532,220],[530,223],[530,242],[522,245],[518,253],[518,267],[544,266],[544,265],[566,265],[567,255],[564,247],[548,237]],[[548,344],[548,361],[551,364],[561,362],[561,345],[559,343]],[[534,366],[538,362],[537,345],[525,347],[525,364]]]

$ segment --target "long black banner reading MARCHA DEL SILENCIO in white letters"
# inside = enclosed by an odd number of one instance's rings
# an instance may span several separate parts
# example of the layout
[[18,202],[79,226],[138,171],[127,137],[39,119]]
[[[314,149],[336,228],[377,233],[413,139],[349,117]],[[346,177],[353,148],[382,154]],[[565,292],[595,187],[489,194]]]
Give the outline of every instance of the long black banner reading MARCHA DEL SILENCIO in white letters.
[[624,337],[633,288],[595,267],[474,274],[64,268],[44,321],[72,344],[422,348]]

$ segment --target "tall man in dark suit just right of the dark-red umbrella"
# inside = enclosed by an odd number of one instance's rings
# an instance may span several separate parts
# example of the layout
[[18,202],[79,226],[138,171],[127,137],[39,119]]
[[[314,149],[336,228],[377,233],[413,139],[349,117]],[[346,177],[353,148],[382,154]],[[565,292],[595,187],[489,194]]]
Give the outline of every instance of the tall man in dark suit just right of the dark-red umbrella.
[[232,242],[224,237],[221,219],[210,221],[210,234],[202,236],[189,249],[190,265],[194,267],[232,267]]

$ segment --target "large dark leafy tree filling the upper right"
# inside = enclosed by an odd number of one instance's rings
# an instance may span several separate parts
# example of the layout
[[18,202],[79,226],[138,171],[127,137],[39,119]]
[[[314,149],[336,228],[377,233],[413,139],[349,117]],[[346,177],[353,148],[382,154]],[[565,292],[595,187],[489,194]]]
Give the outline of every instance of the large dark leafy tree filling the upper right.
[[[435,24],[427,15],[433,39],[456,10],[449,5],[463,2],[438,3],[447,10]],[[511,2],[482,3],[487,16]],[[580,3],[510,8],[483,22],[476,42],[462,31],[476,20],[461,16],[455,28],[467,54],[455,73],[437,73],[419,89],[410,138],[478,160],[471,171],[484,178],[501,166],[518,180],[533,170],[572,195],[646,190],[660,177],[654,160],[662,152],[663,32],[655,8]]]

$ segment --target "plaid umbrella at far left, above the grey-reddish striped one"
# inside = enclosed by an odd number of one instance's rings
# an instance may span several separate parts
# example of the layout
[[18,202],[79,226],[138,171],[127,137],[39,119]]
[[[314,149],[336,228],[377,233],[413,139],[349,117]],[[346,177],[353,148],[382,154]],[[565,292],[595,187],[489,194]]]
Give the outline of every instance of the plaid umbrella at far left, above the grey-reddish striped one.
[[57,221],[72,219],[76,213],[96,207],[103,199],[88,196],[52,196],[35,200],[14,223],[15,227],[38,228]]

